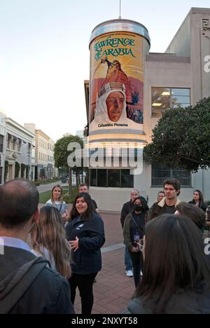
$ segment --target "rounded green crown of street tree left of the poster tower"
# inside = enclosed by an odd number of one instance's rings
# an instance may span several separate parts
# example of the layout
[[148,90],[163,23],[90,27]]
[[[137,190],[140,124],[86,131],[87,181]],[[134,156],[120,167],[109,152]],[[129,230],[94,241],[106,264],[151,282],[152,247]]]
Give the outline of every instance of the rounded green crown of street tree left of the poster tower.
[[83,146],[83,140],[80,139],[80,137],[73,135],[62,137],[55,143],[54,157],[56,168],[69,168],[67,159],[72,151],[68,151],[67,149],[71,142],[78,142],[78,144]]

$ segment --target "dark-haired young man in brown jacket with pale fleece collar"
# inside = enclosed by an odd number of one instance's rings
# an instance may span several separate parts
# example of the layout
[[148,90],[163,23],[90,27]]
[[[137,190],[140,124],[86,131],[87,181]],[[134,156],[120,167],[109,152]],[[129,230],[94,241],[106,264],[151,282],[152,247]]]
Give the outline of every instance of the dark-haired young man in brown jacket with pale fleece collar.
[[178,196],[180,194],[180,183],[176,179],[167,179],[163,182],[165,198],[160,203],[155,203],[151,207],[148,221],[159,217],[162,214],[174,214],[176,205],[180,203]]

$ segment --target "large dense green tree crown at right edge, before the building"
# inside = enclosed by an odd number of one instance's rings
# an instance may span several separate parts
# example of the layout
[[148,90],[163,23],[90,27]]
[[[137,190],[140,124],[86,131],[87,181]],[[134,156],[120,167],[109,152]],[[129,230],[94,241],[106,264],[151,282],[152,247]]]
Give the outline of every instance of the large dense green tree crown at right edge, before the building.
[[169,109],[144,148],[146,163],[197,172],[210,167],[210,97],[195,107]]

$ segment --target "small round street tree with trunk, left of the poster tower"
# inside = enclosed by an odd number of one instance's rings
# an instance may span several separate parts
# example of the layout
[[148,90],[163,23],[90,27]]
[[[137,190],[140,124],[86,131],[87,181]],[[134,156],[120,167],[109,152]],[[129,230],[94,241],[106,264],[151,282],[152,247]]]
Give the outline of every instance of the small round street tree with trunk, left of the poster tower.
[[[68,151],[69,144],[77,142],[80,144],[81,148],[83,148],[83,140],[80,139],[80,137],[73,136],[73,135],[66,135],[65,137],[62,137],[61,139],[57,140],[55,143],[55,150],[54,150],[54,157],[55,157],[55,167],[56,168],[62,168],[69,170],[69,194],[71,193],[71,177],[72,177],[72,168],[68,165],[68,157],[72,151]],[[78,179],[78,170],[79,168],[76,168],[76,181],[77,184],[79,182]]]

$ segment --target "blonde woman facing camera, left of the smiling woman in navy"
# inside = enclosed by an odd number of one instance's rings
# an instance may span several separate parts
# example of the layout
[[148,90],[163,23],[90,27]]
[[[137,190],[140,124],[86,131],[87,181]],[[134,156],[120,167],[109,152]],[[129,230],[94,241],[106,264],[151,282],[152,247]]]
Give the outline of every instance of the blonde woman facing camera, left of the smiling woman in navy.
[[69,220],[69,210],[66,203],[62,200],[62,186],[56,184],[52,188],[51,198],[47,201],[46,206],[57,208],[62,215],[62,221],[64,224]]

